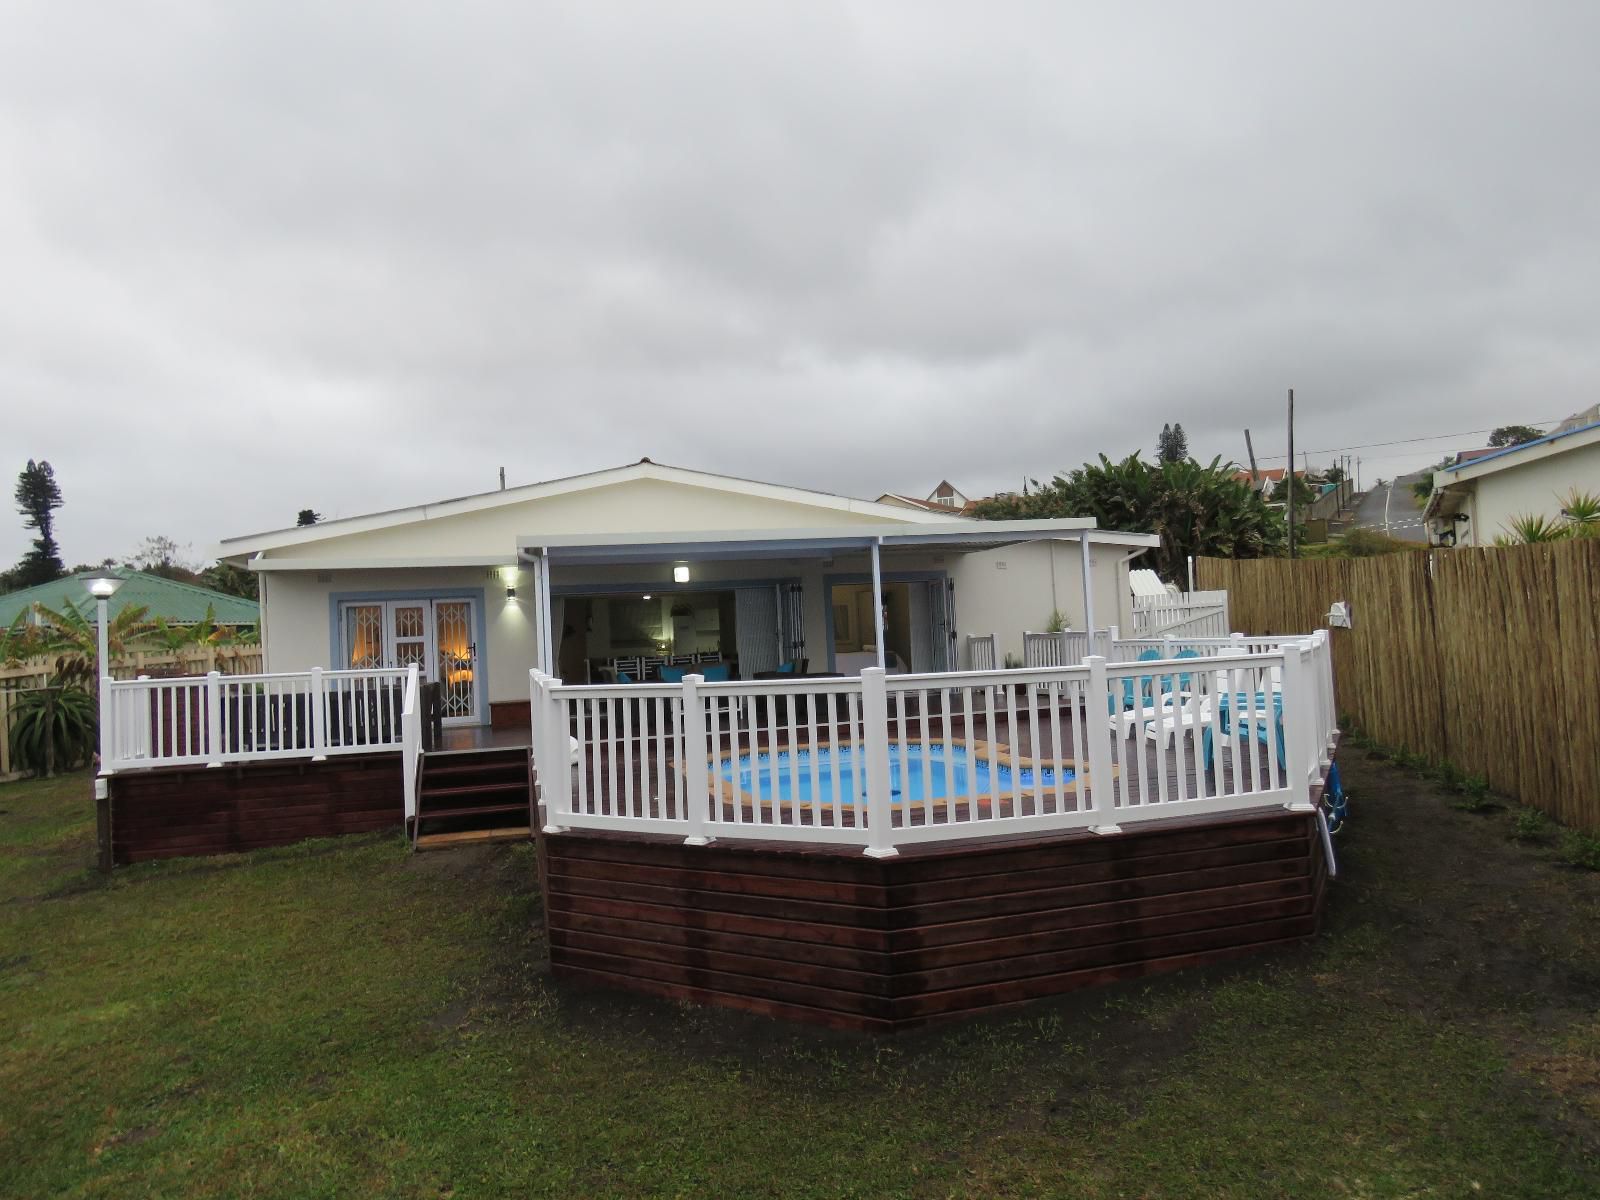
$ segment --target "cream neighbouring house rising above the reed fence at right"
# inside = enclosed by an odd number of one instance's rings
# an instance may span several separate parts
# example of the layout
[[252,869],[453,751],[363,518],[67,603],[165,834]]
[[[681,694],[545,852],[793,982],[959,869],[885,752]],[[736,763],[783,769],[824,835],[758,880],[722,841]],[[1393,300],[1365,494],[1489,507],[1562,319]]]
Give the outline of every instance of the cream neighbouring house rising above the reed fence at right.
[[1600,421],[1458,459],[1434,472],[1422,515],[1437,546],[1493,546],[1517,517],[1558,522],[1574,488],[1600,491]]

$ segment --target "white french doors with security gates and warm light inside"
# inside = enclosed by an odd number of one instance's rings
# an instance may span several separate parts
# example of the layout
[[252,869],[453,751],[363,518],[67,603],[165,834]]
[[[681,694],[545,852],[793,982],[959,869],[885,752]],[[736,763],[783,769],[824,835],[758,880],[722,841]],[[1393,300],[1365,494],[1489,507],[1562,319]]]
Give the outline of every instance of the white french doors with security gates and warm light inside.
[[421,667],[422,678],[442,683],[446,725],[477,725],[483,712],[478,672],[477,602],[350,600],[341,605],[342,664],[352,670]]

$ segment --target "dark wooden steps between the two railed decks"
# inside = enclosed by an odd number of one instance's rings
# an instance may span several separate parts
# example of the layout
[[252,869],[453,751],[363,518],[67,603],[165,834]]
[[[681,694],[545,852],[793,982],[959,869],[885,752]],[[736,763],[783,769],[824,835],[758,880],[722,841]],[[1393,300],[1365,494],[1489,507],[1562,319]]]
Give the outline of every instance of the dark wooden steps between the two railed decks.
[[533,837],[528,750],[434,750],[418,779],[414,850]]

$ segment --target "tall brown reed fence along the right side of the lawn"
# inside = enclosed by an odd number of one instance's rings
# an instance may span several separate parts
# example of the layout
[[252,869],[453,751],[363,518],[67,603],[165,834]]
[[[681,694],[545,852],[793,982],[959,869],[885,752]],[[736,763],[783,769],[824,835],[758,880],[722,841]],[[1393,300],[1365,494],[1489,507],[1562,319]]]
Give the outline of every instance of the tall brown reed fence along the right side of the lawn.
[[1202,558],[1245,634],[1333,630],[1339,710],[1600,830],[1600,539],[1378,558]]

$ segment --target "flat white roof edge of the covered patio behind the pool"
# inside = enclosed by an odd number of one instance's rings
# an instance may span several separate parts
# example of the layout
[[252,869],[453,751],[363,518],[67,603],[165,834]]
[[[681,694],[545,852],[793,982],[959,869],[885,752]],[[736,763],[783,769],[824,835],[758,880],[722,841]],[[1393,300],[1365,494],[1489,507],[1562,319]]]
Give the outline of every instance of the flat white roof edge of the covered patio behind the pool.
[[1146,549],[1154,533],[1096,530],[1088,517],[938,525],[840,525],[813,530],[706,530],[694,533],[552,534],[517,539],[518,560],[566,563],[658,563],[680,558],[830,558],[840,552],[939,550],[971,554],[1035,541],[1078,541]]

